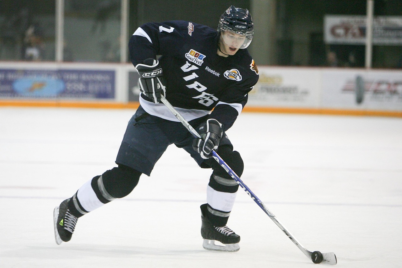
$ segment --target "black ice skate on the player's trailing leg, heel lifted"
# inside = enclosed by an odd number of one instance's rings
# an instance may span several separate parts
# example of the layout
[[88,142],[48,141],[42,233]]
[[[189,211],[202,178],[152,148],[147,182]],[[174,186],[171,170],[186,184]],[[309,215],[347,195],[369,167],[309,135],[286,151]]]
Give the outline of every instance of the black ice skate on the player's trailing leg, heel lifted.
[[68,210],[67,203],[69,200],[70,198],[64,200],[53,210],[54,236],[57,245],[60,245],[63,241],[70,241],[78,221],[78,218],[74,217]]

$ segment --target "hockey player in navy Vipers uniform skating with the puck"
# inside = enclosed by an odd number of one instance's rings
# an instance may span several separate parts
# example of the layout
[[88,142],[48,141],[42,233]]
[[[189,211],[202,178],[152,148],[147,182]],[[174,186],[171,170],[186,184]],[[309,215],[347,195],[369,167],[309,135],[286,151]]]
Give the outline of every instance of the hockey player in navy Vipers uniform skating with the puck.
[[[129,40],[140,75],[140,106],[129,121],[117,167],[95,176],[54,209],[56,243],[70,241],[79,217],[127,196],[141,174],[150,176],[168,145],[185,149],[201,168],[212,168],[207,203],[201,205],[201,236],[207,250],[238,251],[240,236],[226,226],[238,184],[211,158],[213,149],[241,176],[243,161],[226,131],[258,81],[246,47],[253,36],[248,10],[230,6],[217,31],[183,20],[146,23]],[[161,55],[157,59],[157,55]],[[199,132],[195,139],[160,102],[166,99]],[[212,112],[211,112],[212,111]],[[185,213],[181,217],[185,217]],[[214,241],[224,244],[215,245]]]

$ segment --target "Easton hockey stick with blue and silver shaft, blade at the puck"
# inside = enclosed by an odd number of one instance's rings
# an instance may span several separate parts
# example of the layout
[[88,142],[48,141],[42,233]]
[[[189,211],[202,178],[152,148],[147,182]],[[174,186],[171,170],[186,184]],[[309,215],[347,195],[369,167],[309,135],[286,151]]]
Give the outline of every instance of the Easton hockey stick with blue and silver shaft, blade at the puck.
[[[190,131],[190,133],[197,138],[201,138],[201,136],[198,134],[198,132],[178,113],[178,111],[162,96],[160,100],[163,102],[163,104],[166,105],[166,107],[170,110],[170,112],[173,113],[173,115]],[[228,172],[228,174],[237,182],[237,184],[240,185],[240,187],[243,188],[243,190],[251,197],[252,200],[271,218],[271,220],[278,225],[278,227],[287,235],[287,237],[290,238],[290,240],[297,245],[297,248],[301,250],[301,252],[304,253],[308,258],[310,258],[314,263],[326,263],[326,264],[336,264],[336,256],[333,252],[330,253],[321,253],[319,251],[314,251],[311,252],[304,248],[299,241],[293,235],[285,228],[285,226],[282,225],[282,223],[273,215],[271,211],[264,205],[263,202],[248,188],[246,184],[240,179],[239,176],[236,175],[236,173],[228,166],[228,164],[225,163],[224,160],[213,150],[212,151],[212,157],[219,163],[219,165],[222,166]]]

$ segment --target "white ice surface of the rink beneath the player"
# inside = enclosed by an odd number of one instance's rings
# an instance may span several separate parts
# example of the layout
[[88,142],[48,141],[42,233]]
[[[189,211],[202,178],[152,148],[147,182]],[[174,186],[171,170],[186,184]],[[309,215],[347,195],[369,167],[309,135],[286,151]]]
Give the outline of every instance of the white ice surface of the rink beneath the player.
[[[56,245],[53,208],[115,166],[134,110],[0,107],[0,267],[317,267],[239,188],[240,251],[202,248],[210,170],[168,148],[129,196]],[[228,136],[244,183],[334,267],[402,267],[402,119],[242,113]],[[188,217],[180,217],[180,213]]]

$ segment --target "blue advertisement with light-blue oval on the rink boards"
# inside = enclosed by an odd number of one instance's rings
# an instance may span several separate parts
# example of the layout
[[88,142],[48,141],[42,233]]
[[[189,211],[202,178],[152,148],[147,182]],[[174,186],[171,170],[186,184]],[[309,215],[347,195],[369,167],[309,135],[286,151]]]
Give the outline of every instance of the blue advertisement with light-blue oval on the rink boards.
[[115,97],[115,71],[0,69],[0,98]]

